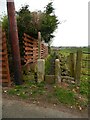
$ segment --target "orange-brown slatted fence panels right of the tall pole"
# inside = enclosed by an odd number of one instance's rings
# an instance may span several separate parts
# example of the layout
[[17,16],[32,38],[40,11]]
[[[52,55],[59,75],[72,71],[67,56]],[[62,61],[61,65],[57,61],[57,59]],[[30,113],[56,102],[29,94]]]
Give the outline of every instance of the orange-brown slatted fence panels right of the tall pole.
[[[38,40],[24,33],[24,62],[36,63],[38,59]],[[48,46],[41,42],[41,59],[48,55]]]

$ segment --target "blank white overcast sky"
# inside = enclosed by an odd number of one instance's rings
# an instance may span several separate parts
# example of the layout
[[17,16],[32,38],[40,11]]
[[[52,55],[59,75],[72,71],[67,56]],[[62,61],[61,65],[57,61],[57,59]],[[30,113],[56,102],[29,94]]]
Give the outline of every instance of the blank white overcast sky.
[[[1,1],[1,0],[0,0]],[[14,0],[15,9],[28,4],[31,11],[44,10],[51,0]],[[88,1],[52,0],[55,14],[62,23],[54,32],[53,46],[88,46]],[[7,13],[6,0],[0,4],[2,12]],[[0,14],[1,15],[1,14]]]

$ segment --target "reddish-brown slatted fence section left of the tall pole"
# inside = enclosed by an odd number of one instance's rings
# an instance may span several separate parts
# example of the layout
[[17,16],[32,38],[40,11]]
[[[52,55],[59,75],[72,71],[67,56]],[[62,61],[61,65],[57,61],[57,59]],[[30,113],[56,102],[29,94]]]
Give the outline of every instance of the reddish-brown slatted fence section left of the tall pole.
[[2,40],[0,41],[0,84],[2,84],[2,86],[10,85],[10,73],[5,32],[2,33]]

